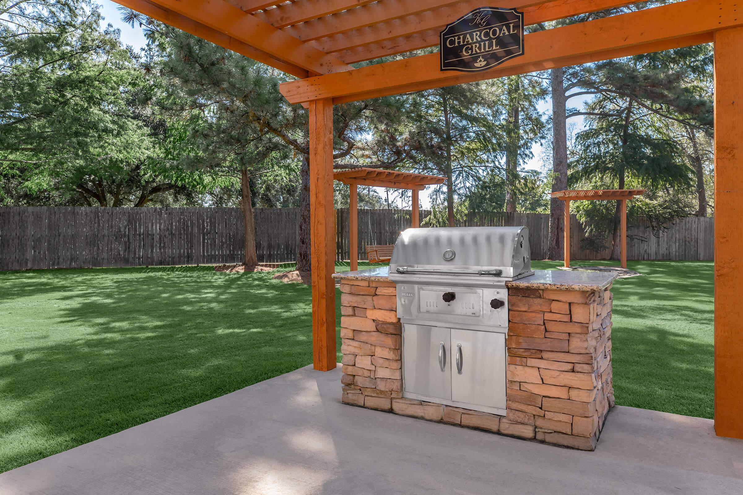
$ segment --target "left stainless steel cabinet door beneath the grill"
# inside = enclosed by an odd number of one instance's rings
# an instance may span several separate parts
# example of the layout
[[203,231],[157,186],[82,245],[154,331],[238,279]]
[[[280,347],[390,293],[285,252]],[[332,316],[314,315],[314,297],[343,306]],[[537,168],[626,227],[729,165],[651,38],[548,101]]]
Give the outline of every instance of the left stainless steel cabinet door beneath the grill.
[[[405,391],[452,399],[451,333],[448,328],[403,324]],[[439,356],[441,355],[441,358]]]

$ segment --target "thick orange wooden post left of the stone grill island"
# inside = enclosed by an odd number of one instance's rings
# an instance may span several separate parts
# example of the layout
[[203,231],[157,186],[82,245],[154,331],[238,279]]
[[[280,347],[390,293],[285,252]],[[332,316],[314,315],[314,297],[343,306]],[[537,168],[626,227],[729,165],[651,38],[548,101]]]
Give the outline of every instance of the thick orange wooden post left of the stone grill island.
[[310,208],[312,252],[312,361],[334,370],[335,216],[333,214],[333,103],[310,102]]

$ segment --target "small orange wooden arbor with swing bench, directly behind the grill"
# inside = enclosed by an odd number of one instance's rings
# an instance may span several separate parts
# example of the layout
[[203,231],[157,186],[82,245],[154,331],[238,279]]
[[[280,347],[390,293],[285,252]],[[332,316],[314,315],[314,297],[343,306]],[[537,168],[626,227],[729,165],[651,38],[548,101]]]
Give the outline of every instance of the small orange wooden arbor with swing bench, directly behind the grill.
[[418,191],[426,186],[443,184],[446,177],[435,175],[411,174],[382,168],[351,168],[337,171],[333,174],[334,180],[340,180],[350,186],[348,198],[348,249],[351,252],[351,271],[359,269],[359,205],[357,202],[357,186],[389,187],[390,189],[410,189],[412,192],[412,206],[410,210],[411,225],[414,228],[421,226],[418,216]]

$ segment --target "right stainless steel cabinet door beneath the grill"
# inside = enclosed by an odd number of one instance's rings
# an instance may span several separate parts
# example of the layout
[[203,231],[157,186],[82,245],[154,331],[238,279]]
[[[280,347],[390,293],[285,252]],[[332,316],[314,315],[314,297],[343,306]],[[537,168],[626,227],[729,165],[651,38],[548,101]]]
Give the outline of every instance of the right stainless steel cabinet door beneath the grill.
[[452,401],[506,408],[504,333],[452,329]]

